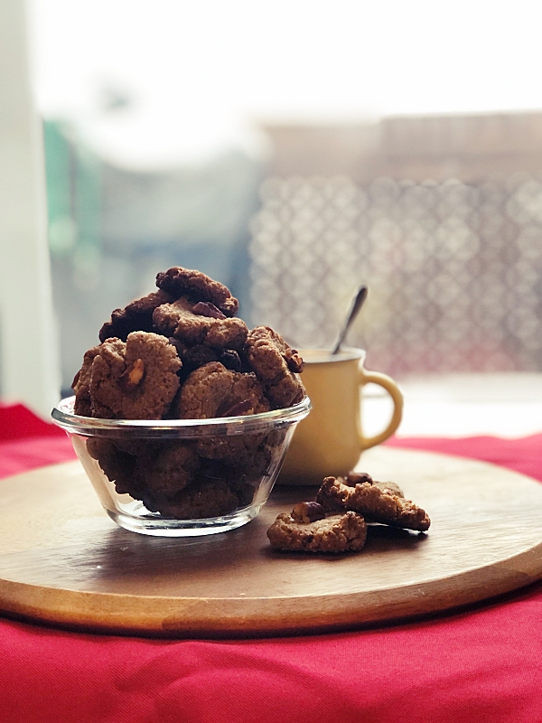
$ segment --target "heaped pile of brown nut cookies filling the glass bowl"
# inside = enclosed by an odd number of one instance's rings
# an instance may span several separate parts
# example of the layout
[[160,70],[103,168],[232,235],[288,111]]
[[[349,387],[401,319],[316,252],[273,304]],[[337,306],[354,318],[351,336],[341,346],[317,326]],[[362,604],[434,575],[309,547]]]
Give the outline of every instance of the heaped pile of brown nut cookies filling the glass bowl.
[[[304,399],[303,360],[266,326],[236,317],[238,300],[199,271],[175,267],[158,290],[116,309],[85,353],[74,412],[107,419],[209,419],[258,414]],[[177,519],[248,505],[283,431],[197,440],[87,440],[117,493]]]

